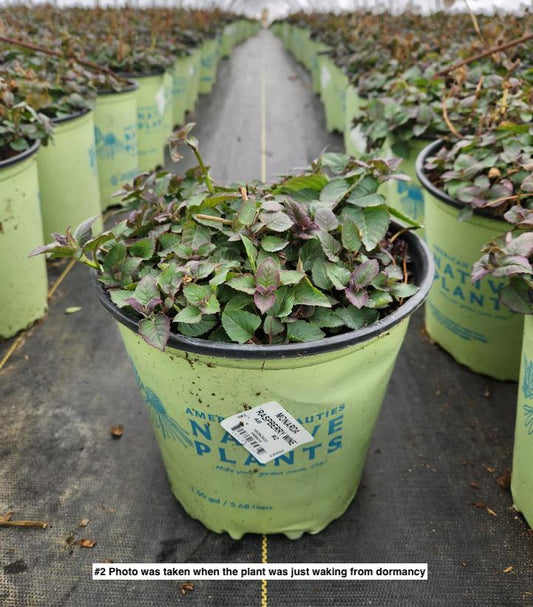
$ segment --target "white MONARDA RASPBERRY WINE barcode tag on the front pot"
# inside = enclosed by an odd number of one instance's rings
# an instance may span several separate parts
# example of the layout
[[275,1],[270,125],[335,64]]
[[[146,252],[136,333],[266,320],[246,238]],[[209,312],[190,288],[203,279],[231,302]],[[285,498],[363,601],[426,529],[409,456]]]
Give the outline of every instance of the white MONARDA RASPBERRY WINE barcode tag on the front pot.
[[290,413],[274,401],[227,417],[220,425],[261,464],[314,440]]

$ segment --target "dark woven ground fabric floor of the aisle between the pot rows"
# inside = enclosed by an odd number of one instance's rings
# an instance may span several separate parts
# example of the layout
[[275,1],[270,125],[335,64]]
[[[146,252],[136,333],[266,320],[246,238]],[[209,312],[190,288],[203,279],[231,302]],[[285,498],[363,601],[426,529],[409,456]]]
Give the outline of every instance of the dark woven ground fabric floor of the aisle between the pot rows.
[[[271,178],[326,145],[342,150],[341,138],[326,132],[308,74],[268,31],[222,61],[194,119],[204,159],[222,182]],[[63,269],[53,267],[48,316],[0,347],[0,515],[47,523],[0,527],[2,607],[533,605],[533,533],[508,487],[516,384],[455,363],[429,341],[422,311],[346,514],[296,541],[234,541],[190,519],[172,496],[114,321],[86,269]],[[73,306],[81,310],[67,314]],[[116,425],[124,428],[120,439],[110,432]],[[96,543],[86,548],[81,539]],[[92,563],[106,560],[261,563],[265,556],[292,564],[427,562],[429,579],[190,586],[91,579]]]

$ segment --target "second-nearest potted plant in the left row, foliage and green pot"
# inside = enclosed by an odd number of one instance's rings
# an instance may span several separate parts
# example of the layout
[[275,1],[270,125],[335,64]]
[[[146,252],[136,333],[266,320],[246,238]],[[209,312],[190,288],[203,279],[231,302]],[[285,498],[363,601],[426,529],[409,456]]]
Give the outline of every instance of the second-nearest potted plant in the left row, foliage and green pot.
[[48,116],[54,127],[52,144],[37,154],[44,238],[50,242],[65,222],[77,225],[100,212],[92,76],[74,61],[14,47],[3,53],[0,73],[16,83],[16,99]]

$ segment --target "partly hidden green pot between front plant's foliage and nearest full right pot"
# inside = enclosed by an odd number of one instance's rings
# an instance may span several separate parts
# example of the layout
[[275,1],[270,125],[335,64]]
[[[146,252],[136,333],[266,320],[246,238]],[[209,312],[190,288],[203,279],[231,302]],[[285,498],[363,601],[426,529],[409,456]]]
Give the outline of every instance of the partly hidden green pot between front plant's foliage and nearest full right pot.
[[[400,173],[405,173],[411,181],[400,181],[391,179],[387,185],[387,202],[408,217],[420,224],[424,224],[424,188],[416,175],[416,159],[419,154],[427,148],[430,141],[427,139],[411,139],[402,142],[402,149],[393,151],[390,146],[386,147],[388,155],[399,156],[402,163],[398,167]],[[424,237],[423,230],[419,235]]]

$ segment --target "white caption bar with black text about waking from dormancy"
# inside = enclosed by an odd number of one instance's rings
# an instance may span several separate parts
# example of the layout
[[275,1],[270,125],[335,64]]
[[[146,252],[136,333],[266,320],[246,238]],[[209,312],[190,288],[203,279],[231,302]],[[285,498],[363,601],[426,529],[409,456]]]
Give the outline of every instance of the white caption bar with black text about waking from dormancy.
[[93,563],[93,580],[427,579],[427,563]]

